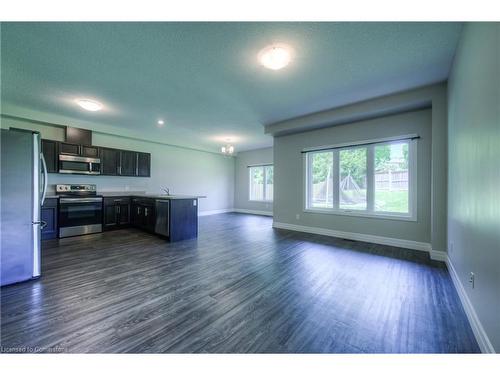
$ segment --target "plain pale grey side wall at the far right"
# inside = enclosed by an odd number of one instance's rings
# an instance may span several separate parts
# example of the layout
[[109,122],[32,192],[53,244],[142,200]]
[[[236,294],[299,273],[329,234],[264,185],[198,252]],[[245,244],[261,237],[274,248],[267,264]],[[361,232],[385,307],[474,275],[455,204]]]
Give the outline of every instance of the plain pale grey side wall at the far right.
[[500,23],[465,25],[448,87],[448,253],[489,337],[480,346],[499,352]]

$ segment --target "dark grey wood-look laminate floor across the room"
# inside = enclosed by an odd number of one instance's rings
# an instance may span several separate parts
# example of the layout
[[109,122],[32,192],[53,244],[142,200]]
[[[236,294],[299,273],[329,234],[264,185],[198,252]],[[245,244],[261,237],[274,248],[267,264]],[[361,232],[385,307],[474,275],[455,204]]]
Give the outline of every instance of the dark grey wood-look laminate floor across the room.
[[271,223],[222,214],[200,218],[199,238],[175,244],[134,229],[45,242],[43,277],[1,289],[1,345],[479,351],[443,263]]

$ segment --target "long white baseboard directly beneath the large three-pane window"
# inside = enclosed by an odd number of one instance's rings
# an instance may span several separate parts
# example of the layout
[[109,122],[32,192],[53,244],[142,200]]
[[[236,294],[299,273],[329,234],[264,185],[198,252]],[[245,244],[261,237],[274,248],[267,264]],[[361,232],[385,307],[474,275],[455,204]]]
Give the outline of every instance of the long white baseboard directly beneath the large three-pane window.
[[426,242],[402,240],[399,238],[381,237],[381,236],[374,236],[371,234],[362,234],[353,232],[343,232],[333,229],[306,227],[303,225],[278,223],[278,222],[273,222],[273,227],[279,229],[294,230],[297,232],[305,232],[305,233],[321,234],[330,237],[345,238],[354,241],[371,242],[380,245],[397,246],[397,247],[403,247],[405,249],[420,250],[426,252],[431,251],[431,245]]

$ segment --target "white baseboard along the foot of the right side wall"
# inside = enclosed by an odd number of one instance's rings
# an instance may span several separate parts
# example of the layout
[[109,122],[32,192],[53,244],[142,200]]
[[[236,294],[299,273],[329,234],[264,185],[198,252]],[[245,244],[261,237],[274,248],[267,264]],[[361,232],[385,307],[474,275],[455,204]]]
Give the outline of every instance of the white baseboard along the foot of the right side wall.
[[476,341],[479,345],[479,348],[481,349],[481,352],[490,354],[495,353],[495,349],[493,348],[488,335],[484,331],[483,325],[481,324],[481,321],[476,314],[476,310],[474,309],[472,302],[467,296],[465,288],[462,285],[460,278],[458,277],[457,271],[455,270],[455,267],[453,266],[453,263],[448,256],[446,257],[446,265],[448,266],[451,280],[453,281],[453,285],[455,286],[458,296],[460,297],[460,301],[462,302],[462,306],[465,310],[465,314],[467,315],[467,319],[469,319],[469,323],[471,325],[472,331],[474,332],[474,336],[476,337]]

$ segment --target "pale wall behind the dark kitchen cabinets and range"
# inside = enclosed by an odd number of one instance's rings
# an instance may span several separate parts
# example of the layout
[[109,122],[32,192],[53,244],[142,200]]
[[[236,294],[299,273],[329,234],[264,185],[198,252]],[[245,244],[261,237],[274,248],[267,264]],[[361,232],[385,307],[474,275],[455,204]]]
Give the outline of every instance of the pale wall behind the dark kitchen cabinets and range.
[[[64,140],[64,128],[11,118],[1,119],[2,128],[16,127],[39,131],[42,138]],[[146,191],[172,194],[206,195],[200,199],[200,212],[230,209],[234,200],[233,157],[160,143],[140,141],[93,131],[96,146],[116,147],[151,153],[151,177],[112,177],[49,174],[49,185],[92,183],[100,191]]]

